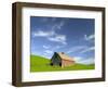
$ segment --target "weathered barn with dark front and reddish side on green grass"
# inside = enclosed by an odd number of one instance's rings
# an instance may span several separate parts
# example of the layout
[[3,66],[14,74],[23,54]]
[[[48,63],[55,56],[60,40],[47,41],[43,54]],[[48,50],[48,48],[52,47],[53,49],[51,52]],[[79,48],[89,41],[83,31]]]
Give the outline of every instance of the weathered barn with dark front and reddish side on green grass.
[[75,65],[75,60],[64,52],[54,52],[51,59],[51,65],[59,65],[62,67]]

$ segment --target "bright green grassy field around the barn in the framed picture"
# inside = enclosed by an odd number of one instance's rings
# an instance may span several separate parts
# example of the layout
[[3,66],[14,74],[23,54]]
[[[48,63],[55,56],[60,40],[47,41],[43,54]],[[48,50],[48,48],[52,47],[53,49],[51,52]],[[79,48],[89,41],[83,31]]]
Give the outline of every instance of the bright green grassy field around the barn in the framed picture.
[[30,72],[53,72],[53,71],[83,71],[83,69],[94,69],[94,64],[75,64],[69,67],[62,68],[60,66],[51,66],[50,60],[39,56],[30,55]]

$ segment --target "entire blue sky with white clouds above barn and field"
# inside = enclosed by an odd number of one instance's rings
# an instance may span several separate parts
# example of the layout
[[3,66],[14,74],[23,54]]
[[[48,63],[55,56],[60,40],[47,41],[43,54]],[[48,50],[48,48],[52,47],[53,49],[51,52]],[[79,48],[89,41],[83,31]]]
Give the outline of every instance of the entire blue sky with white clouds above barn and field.
[[30,52],[51,59],[65,52],[78,63],[94,63],[93,18],[30,17]]

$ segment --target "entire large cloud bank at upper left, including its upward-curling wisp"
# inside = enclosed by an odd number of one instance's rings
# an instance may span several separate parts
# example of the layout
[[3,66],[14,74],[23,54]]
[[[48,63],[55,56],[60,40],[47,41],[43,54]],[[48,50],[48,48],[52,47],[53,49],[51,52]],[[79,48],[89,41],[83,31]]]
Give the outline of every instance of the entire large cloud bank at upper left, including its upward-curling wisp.
[[45,37],[50,41],[60,42],[63,44],[67,44],[66,42],[66,35],[59,35],[55,33],[55,27],[58,26],[60,28],[64,22],[60,22],[59,25],[52,26],[51,30],[43,31],[39,29],[38,31],[33,31],[33,37]]

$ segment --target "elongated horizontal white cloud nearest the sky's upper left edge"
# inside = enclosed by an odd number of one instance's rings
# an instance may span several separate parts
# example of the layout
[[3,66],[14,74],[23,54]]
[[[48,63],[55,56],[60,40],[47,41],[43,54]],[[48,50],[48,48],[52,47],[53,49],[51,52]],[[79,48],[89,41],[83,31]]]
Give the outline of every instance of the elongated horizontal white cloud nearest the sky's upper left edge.
[[50,31],[43,31],[43,30],[38,30],[33,33],[35,37],[50,37],[55,35],[55,31],[50,30]]

